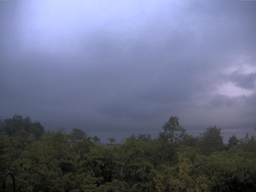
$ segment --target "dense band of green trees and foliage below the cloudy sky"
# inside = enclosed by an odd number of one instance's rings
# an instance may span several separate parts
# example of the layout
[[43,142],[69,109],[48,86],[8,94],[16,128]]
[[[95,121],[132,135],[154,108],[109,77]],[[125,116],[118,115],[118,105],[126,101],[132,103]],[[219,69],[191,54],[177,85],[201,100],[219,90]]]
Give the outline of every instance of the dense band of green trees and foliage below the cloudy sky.
[[224,144],[216,126],[195,137],[172,116],[155,139],[110,142],[78,128],[45,132],[15,115],[0,121],[0,176],[13,172],[22,192],[256,191],[255,136]]

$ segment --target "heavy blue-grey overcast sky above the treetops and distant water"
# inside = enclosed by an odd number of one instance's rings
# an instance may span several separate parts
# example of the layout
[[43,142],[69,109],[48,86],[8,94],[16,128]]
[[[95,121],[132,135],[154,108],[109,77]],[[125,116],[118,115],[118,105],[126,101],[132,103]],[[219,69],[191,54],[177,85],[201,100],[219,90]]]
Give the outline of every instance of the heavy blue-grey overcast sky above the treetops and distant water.
[[46,129],[254,128],[256,1],[0,1],[0,117]]

